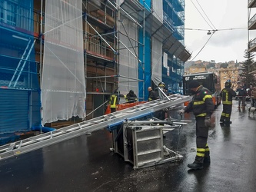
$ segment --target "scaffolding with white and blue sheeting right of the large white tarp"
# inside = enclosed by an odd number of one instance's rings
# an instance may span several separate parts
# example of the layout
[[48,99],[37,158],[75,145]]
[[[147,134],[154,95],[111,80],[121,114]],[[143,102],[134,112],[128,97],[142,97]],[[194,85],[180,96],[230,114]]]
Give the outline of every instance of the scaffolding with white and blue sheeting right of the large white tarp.
[[[165,10],[166,3],[168,10]],[[109,95],[115,89],[126,94],[133,89],[138,92],[139,98],[146,99],[148,86],[157,85],[161,81],[167,81],[171,91],[180,92],[184,62],[190,57],[184,47],[184,4],[183,0],[85,1],[85,21],[88,24],[85,25],[85,28],[88,26],[85,29],[85,58],[88,59],[85,64],[87,68],[93,65],[102,69],[95,76],[87,72],[87,82],[93,85],[89,94],[99,94],[99,91]],[[101,28],[93,27],[95,22]],[[96,34],[91,35],[88,32],[91,29]],[[97,41],[97,45],[91,41]],[[111,45],[108,47],[111,58],[100,53],[101,48],[105,50],[105,46],[100,45],[101,42]],[[92,44],[96,50],[90,47]],[[169,55],[168,58],[171,57],[171,60],[166,61],[168,71],[165,67],[162,70],[161,50]],[[90,57],[92,60],[99,60],[91,61]],[[100,61],[103,59],[105,61]],[[107,66],[114,69],[113,74],[105,70]],[[166,75],[162,76],[163,72]],[[101,103],[107,99],[108,97],[102,97]]]

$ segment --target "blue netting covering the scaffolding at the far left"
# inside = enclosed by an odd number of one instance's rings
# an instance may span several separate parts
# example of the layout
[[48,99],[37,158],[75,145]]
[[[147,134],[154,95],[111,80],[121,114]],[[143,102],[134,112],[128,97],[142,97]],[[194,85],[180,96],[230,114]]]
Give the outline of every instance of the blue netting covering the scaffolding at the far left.
[[40,124],[33,8],[33,0],[0,1],[1,138]]

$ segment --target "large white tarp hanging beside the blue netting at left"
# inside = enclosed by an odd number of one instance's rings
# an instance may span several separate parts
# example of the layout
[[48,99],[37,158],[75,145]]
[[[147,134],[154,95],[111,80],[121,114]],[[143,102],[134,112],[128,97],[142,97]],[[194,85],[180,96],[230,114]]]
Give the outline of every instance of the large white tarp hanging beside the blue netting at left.
[[81,0],[45,1],[42,124],[85,118]]

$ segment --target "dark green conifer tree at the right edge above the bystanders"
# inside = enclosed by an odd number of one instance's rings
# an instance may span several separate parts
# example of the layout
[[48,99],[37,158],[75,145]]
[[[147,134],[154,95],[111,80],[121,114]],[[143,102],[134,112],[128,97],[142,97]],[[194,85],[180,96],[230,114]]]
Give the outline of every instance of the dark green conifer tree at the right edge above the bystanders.
[[254,54],[248,50],[244,51],[244,58],[246,60],[242,62],[241,65],[241,74],[240,79],[243,84],[246,84],[248,87],[250,84],[254,84],[255,78],[254,74],[249,74],[251,71],[254,71]]

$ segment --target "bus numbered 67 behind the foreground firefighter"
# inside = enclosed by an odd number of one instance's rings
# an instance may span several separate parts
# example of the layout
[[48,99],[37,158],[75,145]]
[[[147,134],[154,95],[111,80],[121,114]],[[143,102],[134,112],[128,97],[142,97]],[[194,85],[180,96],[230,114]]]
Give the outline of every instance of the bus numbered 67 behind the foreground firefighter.
[[[196,80],[199,84],[203,85],[204,88],[208,88],[212,94],[212,100],[214,101],[215,108],[221,104],[221,84],[220,79],[213,72],[196,73],[196,74],[186,74],[183,75],[183,94],[191,95],[191,91],[188,88],[188,84],[191,80]],[[188,102],[185,103],[185,106]]]

